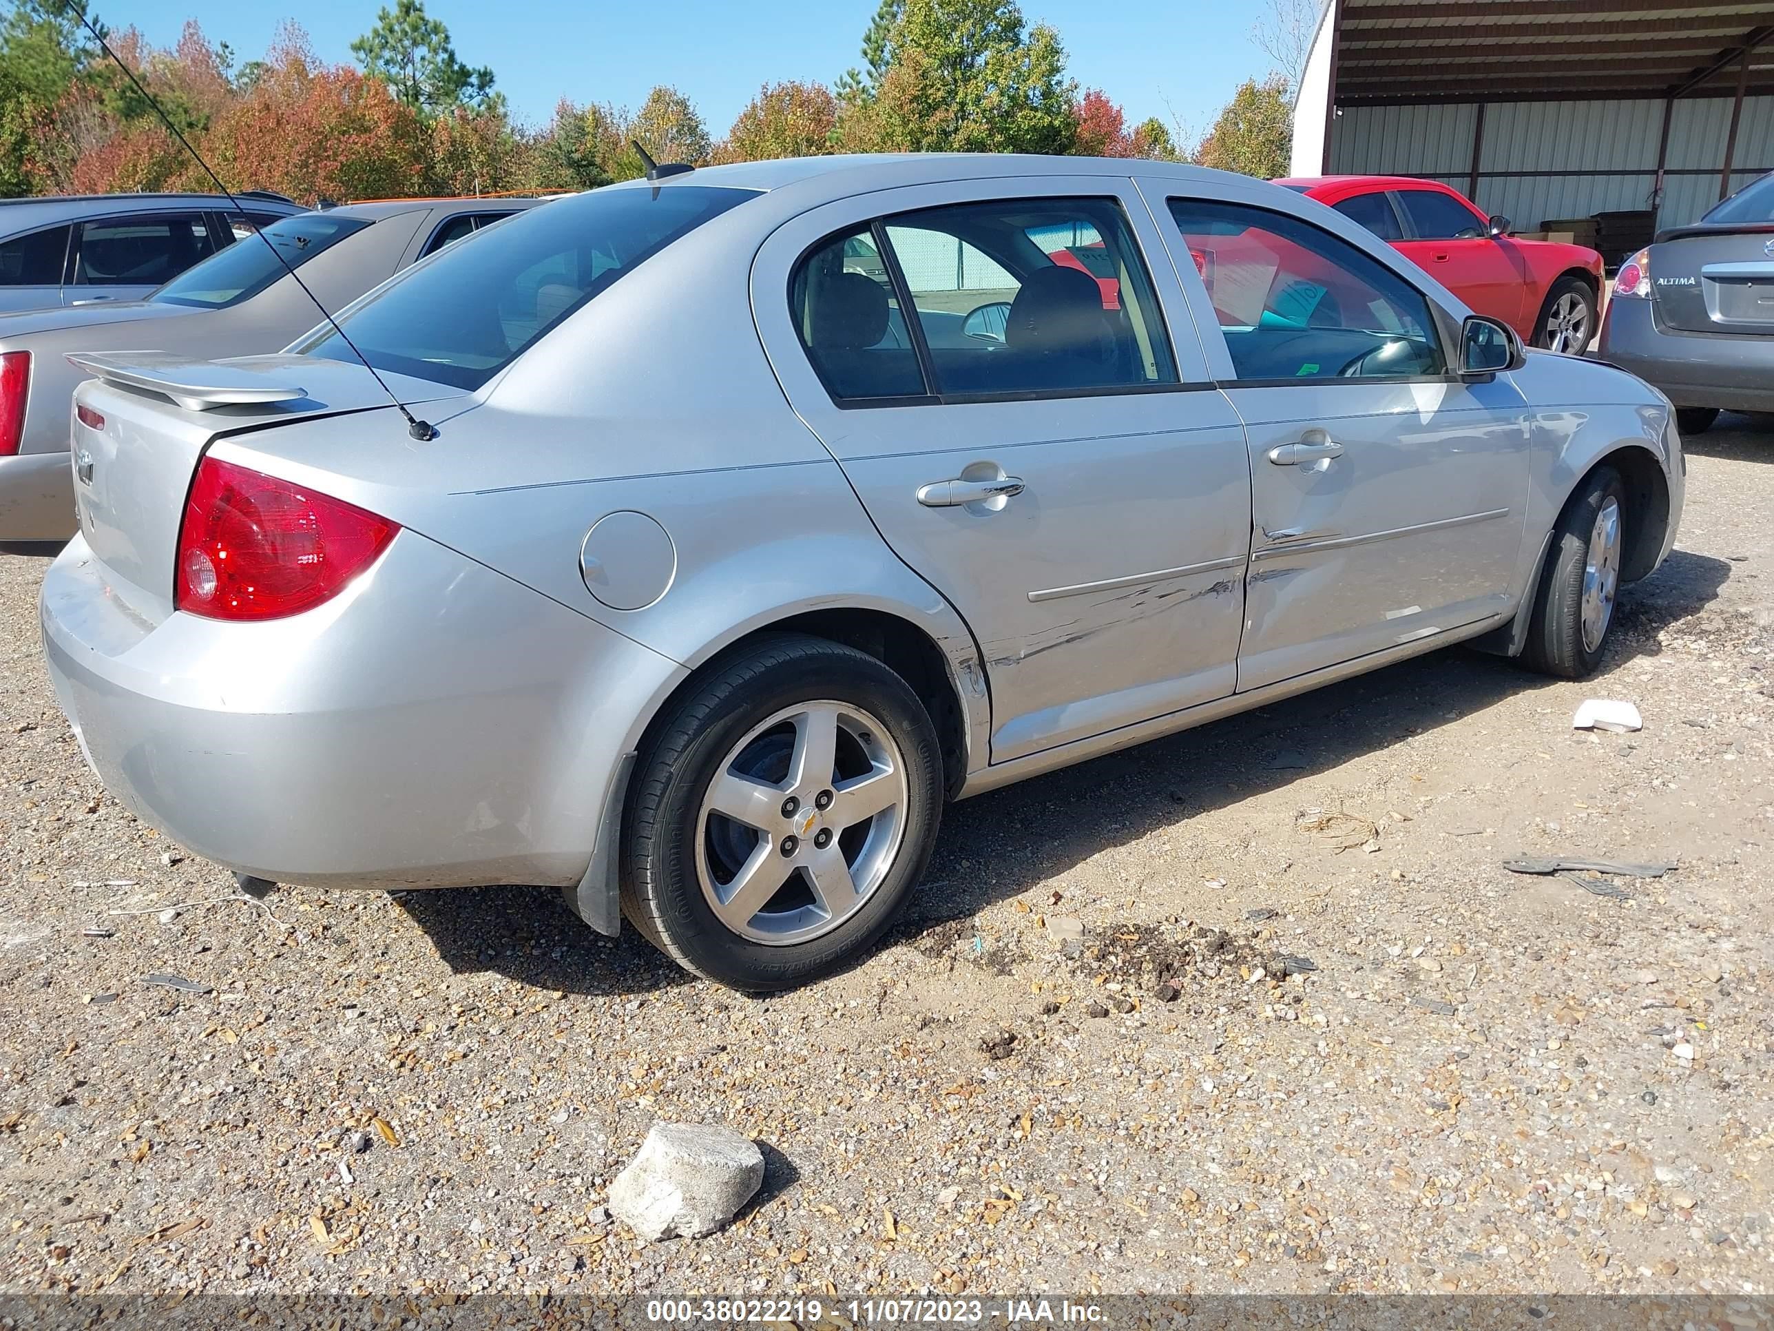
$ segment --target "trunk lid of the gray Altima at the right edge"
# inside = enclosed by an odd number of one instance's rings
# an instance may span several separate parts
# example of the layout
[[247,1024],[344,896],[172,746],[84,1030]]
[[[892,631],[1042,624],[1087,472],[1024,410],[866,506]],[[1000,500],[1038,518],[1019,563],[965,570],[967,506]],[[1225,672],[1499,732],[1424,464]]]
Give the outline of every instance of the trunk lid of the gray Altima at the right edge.
[[1774,335],[1774,227],[1664,232],[1652,248],[1652,291],[1669,328]]

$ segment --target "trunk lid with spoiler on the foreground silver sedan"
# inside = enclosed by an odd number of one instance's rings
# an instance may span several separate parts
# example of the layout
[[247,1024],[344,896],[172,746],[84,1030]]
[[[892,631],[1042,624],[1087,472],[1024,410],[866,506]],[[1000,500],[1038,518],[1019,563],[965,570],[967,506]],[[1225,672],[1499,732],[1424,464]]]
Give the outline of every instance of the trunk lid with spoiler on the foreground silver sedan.
[[[99,378],[75,390],[103,424],[73,422],[75,509],[106,582],[151,623],[172,614],[184,497],[224,435],[394,406],[362,366],[296,355],[190,360],[163,351],[69,357]],[[383,374],[408,406],[458,389]],[[394,417],[387,426],[403,437]]]

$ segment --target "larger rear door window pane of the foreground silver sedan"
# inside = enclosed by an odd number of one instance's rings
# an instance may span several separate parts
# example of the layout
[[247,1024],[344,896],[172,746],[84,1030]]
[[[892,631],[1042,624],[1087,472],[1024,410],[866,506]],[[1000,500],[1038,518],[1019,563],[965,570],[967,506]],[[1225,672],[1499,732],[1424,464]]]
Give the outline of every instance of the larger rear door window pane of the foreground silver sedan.
[[1114,199],[1009,199],[887,218],[935,390],[1036,396],[1176,383]]

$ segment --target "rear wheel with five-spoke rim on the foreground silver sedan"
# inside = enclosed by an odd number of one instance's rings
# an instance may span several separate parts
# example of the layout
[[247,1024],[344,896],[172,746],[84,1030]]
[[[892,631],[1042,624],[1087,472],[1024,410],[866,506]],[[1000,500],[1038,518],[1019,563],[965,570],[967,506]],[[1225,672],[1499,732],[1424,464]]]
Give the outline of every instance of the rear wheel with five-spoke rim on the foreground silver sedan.
[[644,745],[623,914],[706,980],[804,985],[882,935],[940,816],[937,729],[905,680],[825,639],[761,639]]

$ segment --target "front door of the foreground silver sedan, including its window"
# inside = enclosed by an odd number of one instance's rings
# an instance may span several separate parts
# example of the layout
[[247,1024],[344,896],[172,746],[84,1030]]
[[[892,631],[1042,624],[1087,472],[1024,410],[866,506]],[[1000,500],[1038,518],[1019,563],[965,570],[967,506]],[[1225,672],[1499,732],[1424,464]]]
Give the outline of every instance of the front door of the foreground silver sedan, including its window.
[[1428,298],[1375,254],[1291,213],[1164,204],[1249,431],[1238,689],[1499,618],[1529,474],[1510,378],[1449,374]]

